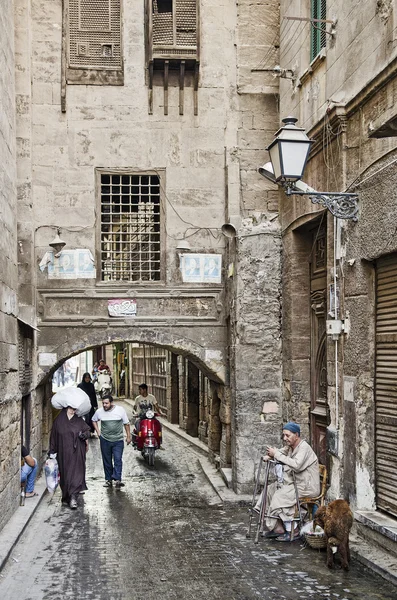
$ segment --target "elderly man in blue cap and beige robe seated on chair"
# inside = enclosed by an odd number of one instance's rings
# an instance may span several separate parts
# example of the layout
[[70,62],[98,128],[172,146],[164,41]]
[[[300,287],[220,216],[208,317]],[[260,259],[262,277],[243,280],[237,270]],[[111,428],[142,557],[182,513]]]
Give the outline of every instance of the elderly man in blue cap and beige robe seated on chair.
[[[320,493],[320,475],[318,459],[313,449],[300,437],[297,423],[287,423],[283,427],[283,440],[286,444],[281,450],[266,447],[264,460],[276,460],[283,467],[282,483],[271,483],[267,489],[265,538],[276,538],[280,542],[290,541],[291,521],[296,509],[296,493],[293,480],[298,488],[299,497],[315,497]],[[255,510],[260,509],[260,501]],[[299,537],[299,532],[295,535]]]

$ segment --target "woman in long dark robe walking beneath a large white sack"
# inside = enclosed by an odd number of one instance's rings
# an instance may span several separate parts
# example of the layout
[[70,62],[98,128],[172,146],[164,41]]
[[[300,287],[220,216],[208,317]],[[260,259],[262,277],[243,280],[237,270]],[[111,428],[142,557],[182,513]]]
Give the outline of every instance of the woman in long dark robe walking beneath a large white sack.
[[51,430],[49,453],[57,455],[62,502],[77,508],[77,495],[86,490],[85,458],[90,428],[76,409],[63,408]]

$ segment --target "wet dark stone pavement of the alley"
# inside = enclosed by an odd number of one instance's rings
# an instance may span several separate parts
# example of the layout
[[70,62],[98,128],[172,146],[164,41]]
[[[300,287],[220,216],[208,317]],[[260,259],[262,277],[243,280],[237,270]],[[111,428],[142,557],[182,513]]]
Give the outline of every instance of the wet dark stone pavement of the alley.
[[0,573],[0,598],[397,598],[354,560],[348,573],[329,571],[323,552],[298,542],[246,539],[247,509],[224,509],[195,451],[172,433],[164,438],[154,469],[125,448],[121,490],[103,487],[99,441],[90,440],[78,510],[61,506],[59,492],[44,497]]

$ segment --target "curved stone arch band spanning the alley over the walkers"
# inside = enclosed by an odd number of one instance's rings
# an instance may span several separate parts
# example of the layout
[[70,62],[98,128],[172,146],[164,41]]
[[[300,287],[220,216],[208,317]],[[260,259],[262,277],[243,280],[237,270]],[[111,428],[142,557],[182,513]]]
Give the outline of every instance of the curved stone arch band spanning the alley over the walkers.
[[[184,332],[183,332],[184,333]],[[46,325],[39,338],[38,385],[46,384],[56,369],[71,356],[96,346],[117,342],[136,342],[161,346],[189,358],[209,379],[225,384],[223,348],[211,348],[192,340],[178,331],[148,327],[49,327]],[[40,365],[40,353],[56,354],[52,366]]]

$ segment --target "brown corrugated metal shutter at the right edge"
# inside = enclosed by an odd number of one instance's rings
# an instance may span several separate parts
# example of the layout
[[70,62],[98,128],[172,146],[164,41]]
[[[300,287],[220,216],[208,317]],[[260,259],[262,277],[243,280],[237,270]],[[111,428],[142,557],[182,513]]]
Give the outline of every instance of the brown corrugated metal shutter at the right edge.
[[377,506],[397,516],[397,254],[377,262],[376,299]]

